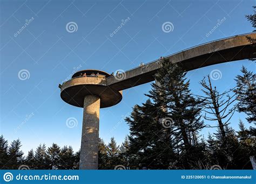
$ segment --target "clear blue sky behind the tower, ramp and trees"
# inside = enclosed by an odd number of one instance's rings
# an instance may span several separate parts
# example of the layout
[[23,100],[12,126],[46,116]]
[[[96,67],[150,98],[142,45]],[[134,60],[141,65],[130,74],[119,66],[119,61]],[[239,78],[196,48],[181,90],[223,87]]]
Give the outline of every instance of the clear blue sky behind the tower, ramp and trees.
[[[150,62],[207,41],[251,32],[245,14],[251,14],[255,5],[255,1],[248,0],[0,2],[0,133],[9,143],[20,138],[25,154],[40,143],[50,146],[53,142],[78,150],[83,109],[62,101],[58,88],[74,68],[81,65],[80,69],[109,73],[127,70],[142,61]],[[122,29],[110,36],[128,17]],[[218,29],[206,36],[224,17]],[[66,31],[69,22],[77,24],[73,33]],[[173,24],[173,31],[162,30],[165,22]],[[17,33],[25,23],[25,29]],[[220,91],[233,87],[242,65],[255,72],[255,65],[248,60],[189,72],[193,93],[200,94],[198,82],[213,69],[222,73],[221,79],[213,82]],[[18,77],[22,69],[29,72],[29,77],[23,75],[26,80]],[[99,135],[106,143],[112,136],[122,143],[129,134],[124,117],[135,104],[146,101],[144,94],[150,89],[148,83],[124,90],[122,102],[100,110]],[[66,126],[70,117],[78,121],[74,128]],[[246,116],[233,116],[231,125],[235,129],[239,117],[244,120]],[[208,131],[214,130],[205,129],[203,133],[207,135]]]

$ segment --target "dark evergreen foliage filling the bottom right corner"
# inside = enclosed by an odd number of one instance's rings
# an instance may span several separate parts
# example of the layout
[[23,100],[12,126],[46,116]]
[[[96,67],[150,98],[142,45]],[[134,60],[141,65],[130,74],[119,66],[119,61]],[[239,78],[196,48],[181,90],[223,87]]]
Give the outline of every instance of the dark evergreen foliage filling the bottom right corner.
[[208,137],[206,162],[218,164],[223,169],[252,169],[250,156],[256,154],[255,136],[250,135],[243,125],[237,134],[231,128],[226,129],[225,146],[222,140]]

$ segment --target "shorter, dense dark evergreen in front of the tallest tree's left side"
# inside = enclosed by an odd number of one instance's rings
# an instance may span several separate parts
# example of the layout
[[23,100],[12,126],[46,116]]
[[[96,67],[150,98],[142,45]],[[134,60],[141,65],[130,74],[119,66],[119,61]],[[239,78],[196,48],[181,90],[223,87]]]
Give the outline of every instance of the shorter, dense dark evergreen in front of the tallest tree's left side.
[[[167,169],[176,160],[173,154],[170,125],[163,126],[159,114],[163,110],[150,100],[142,106],[135,105],[131,117],[125,121],[130,126],[130,168]],[[167,128],[166,128],[167,127]]]

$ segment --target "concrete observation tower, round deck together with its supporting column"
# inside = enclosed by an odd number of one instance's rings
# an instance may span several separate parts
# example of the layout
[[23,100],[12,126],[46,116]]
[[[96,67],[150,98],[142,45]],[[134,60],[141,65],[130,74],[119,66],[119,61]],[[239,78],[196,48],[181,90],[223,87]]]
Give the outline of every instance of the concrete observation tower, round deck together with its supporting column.
[[122,100],[122,91],[107,87],[107,77],[100,70],[81,70],[59,85],[62,100],[84,108],[79,169],[98,169],[99,109]]

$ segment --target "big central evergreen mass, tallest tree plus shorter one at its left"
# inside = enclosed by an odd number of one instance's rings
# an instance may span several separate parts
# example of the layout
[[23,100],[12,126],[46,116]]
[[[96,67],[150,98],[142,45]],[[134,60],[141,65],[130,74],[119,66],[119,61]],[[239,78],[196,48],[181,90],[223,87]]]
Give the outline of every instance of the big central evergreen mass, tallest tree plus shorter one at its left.
[[[170,163],[188,168],[189,162],[204,157],[198,133],[202,101],[193,97],[186,72],[169,60],[161,61],[157,83],[142,106],[133,108],[126,118],[130,126],[130,162],[149,168],[167,169]],[[197,155],[196,155],[197,153]],[[173,164],[172,164],[173,165]]]

